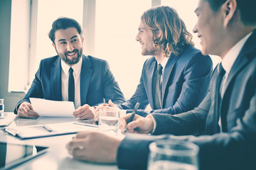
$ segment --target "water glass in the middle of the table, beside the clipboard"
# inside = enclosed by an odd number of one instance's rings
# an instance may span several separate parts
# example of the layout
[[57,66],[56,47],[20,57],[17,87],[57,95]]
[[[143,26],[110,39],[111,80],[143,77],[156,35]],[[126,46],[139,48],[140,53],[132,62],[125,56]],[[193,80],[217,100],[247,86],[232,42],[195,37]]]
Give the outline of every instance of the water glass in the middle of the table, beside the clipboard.
[[119,126],[119,111],[117,109],[100,109],[99,127],[102,131],[117,134]]

